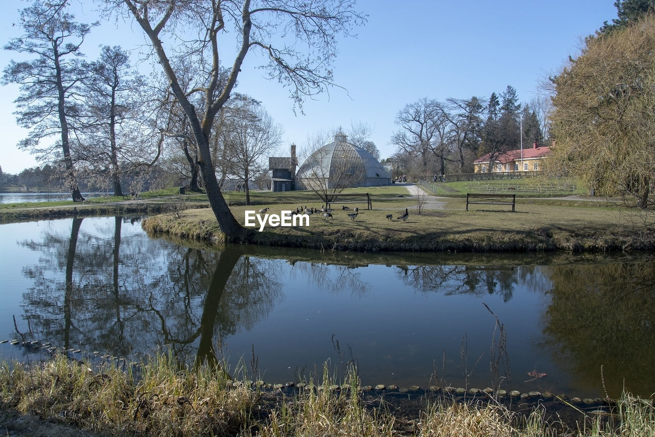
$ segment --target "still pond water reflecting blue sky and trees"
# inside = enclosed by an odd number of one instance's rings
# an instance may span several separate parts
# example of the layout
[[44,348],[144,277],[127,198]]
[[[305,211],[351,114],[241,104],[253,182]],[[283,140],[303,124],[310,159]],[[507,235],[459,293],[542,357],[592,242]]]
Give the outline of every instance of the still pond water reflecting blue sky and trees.
[[[218,251],[129,217],[2,224],[0,247],[0,340],[170,348],[271,383],[352,360],[364,385],[655,392],[651,255]],[[0,344],[5,359],[41,354]]]

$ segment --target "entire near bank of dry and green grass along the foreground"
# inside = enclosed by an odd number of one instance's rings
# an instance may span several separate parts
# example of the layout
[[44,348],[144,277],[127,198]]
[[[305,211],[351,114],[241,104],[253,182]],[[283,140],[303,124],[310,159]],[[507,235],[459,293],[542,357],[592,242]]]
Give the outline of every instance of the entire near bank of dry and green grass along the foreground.
[[[58,355],[0,366],[0,423],[7,435],[138,436],[652,436],[652,401],[629,395],[578,423],[546,419],[542,407],[515,413],[493,395],[473,405],[424,400],[408,414],[365,396],[354,371],[341,384],[326,368],[306,385],[266,388],[218,367],[150,362],[94,367]],[[133,370],[138,368],[138,371]],[[238,373],[238,372],[237,372]],[[573,408],[573,406],[571,406]],[[31,433],[31,434],[30,434]]]

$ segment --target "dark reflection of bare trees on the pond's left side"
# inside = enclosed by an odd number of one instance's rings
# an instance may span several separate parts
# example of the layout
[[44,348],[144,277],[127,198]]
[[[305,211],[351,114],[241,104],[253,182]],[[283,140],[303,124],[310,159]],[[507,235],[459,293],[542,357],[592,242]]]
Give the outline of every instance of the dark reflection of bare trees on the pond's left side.
[[250,329],[280,299],[275,270],[238,247],[203,251],[142,232],[121,238],[128,220],[113,221],[113,232],[80,232],[74,218],[70,236],[45,232],[22,243],[43,253],[24,269],[34,281],[24,294],[33,337],[117,356],[166,346],[180,362],[215,363],[221,338]]

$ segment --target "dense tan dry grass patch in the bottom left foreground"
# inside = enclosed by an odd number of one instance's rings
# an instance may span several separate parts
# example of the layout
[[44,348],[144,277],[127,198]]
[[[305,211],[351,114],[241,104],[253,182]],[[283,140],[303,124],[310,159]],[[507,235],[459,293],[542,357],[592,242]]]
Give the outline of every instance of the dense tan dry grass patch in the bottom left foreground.
[[258,392],[220,371],[178,369],[165,356],[138,379],[117,367],[92,371],[63,356],[43,365],[5,364],[3,410],[103,434],[231,436],[248,425]]

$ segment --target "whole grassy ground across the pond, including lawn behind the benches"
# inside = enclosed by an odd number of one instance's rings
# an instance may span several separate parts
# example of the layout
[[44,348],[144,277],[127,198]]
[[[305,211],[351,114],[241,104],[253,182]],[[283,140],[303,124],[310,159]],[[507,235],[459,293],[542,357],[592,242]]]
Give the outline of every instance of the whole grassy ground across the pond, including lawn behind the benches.
[[[521,181],[518,181],[521,182]],[[531,187],[523,181],[522,191]],[[477,182],[476,182],[477,183]],[[500,181],[500,184],[507,182]],[[514,182],[512,182],[514,183]],[[533,182],[531,182],[533,183]],[[451,196],[465,196],[470,182],[432,184]],[[502,185],[501,185],[502,186]],[[565,188],[550,194],[565,194]],[[479,187],[476,187],[476,189]],[[495,189],[499,189],[495,187]],[[346,192],[364,192],[350,189]],[[339,251],[631,251],[655,249],[655,232],[644,226],[634,211],[607,201],[585,198],[517,198],[516,212],[506,205],[470,205],[461,197],[432,198],[418,214],[419,199],[405,186],[365,188],[373,209],[365,204],[351,220],[341,203],[335,203],[333,218],[320,214],[310,217],[309,226],[272,227],[253,230],[253,243],[259,245],[307,247]],[[237,220],[245,224],[247,210],[269,207],[269,214],[280,214],[299,205],[322,207],[309,191],[259,192],[250,195],[246,206],[243,192],[225,192],[226,201]],[[178,188],[140,194],[137,199],[114,197],[72,201],[0,205],[0,222],[58,218],[73,215],[113,215],[160,213],[145,220],[144,228],[153,234],[219,243],[223,238],[205,194],[180,195]],[[398,220],[409,209],[409,218]],[[392,215],[388,220],[386,215]],[[255,221],[256,222],[256,221]],[[257,226],[257,229],[259,226]]]

